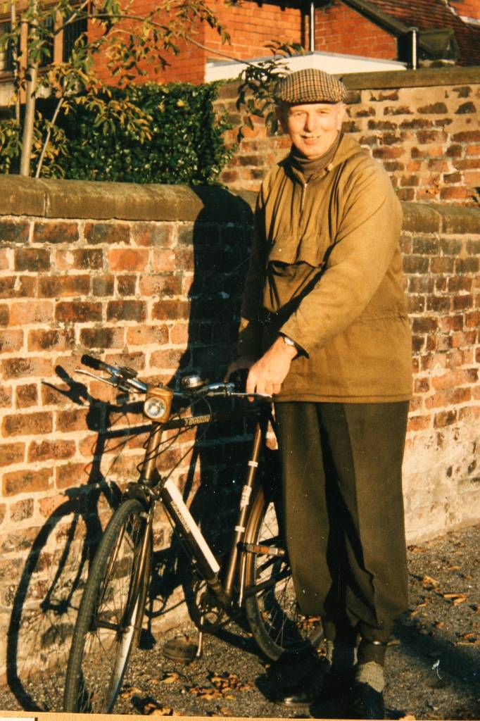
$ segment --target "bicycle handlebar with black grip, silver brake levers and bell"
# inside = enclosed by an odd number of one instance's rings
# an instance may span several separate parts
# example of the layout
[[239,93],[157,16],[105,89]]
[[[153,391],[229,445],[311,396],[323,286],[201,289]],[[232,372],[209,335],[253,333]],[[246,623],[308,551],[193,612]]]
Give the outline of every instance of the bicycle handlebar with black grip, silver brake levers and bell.
[[[81,368],[76,368],[77,373],[84,373],[86,376],[91,376],[98,381],[103,381],[104,383],[107,383],[110,386],[115,386],[115,388],[125,392],[147,392],[148,385],[137,379],[137,373],[133,370],[133,368],[127,368],[125,366],[110,366],[108,363],[100,361],[99,358],[94,358],[92,355],[86,354],[81,356],[81,363],[84,366],[87,366],[87,368],[92,368],[94,371],[105,371],[106,373],[109,373],[110,378],[103,378],[102,376],[97,376],[94,373],[82,371]],[[272,397],[267,394],[236,391],[235,384],[228,383],[226,381],[208,383],[198,388],[190,389],[189,392],[178,392],[172,390],[172,393],[174,398],[185,400],[203,397],[253,398],[265,401],[272,400]]]

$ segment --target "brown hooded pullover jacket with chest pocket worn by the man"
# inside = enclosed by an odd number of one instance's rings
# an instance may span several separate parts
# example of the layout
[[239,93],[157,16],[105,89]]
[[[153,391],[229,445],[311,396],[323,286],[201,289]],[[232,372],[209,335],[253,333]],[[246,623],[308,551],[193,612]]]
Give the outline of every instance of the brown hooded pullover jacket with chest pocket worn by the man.
[[262,183],[256,219],[239,354],[279,331],[304,351],[276,400],[408,399],[401,205],[381,166],[349,136],[308,183],[287,158]]

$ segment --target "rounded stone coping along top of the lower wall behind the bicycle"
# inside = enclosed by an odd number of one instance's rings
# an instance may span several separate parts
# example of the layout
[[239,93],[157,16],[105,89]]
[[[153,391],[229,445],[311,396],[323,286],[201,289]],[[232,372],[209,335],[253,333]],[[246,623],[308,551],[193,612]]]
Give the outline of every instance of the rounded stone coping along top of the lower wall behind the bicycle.
[[[231,193],[220,186],[135,185],[0,175],[3,216],[244,224],[252,217],[256,197],[253,191]],[[405,230],[479,233],[479,208],[434,203],[402,205]]]

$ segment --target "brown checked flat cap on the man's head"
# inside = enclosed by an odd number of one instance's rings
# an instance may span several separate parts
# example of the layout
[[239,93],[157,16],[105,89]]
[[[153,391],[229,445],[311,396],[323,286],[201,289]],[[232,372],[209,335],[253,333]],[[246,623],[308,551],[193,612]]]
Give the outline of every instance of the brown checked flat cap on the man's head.
[[275,102],[301,105],[304,102],[343,102],[347,88],[333,75],[317,68],[304,68],[278,81]]

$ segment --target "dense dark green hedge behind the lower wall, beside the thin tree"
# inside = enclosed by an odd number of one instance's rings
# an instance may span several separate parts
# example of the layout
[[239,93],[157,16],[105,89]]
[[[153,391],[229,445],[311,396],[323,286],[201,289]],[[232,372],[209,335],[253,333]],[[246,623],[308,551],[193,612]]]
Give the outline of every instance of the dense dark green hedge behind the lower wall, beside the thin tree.
[[[61,148],[42,175],[74,180],[212,184],[231,157],[213,100],[218,84],[146,83],[76,97],[57,120]],[[39,102],[44,117],[51,103]],[[0,123],[0,138],[1,127]],[[5,125],[4,133],[9,131]],[[13,148],[0,172],[16,172]],[[4,167],[1,167],[1,166]]]

